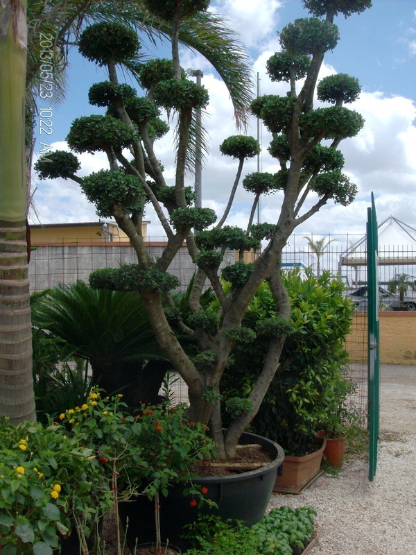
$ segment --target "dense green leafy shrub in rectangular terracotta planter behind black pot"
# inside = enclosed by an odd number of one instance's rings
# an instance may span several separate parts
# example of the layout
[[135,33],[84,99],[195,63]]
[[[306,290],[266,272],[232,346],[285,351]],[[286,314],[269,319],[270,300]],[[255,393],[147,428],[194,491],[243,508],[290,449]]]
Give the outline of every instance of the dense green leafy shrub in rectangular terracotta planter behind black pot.
[[[286,349],[280,366],[252,427],[255,432],[272,438],[284,447],[283,475],[277,477],[280,490],[298,491],[318,474],[325,448],[316,433],[322,422],[336,421],[336,412],[344,410],[352,384],[343,368],[347,364],[345,337],[354,307],[345,298],[344,284],[328,272],[316,278],[311,271],[298,270],[282,275],[291,299],[290,328],[286,332]],[[243,321],[251,329],[260,329],[272,317],[270,287],[264,283],[249,305]],[[230,411],[230,401],[248,395],[249,384],[261,371],[267,336],[257,334],[249,347],[235,350],[232,364],[223,382],[223,405]],[[232,407],[231,407],[232,408]],[[225,413],[227,418],[227,412]]]

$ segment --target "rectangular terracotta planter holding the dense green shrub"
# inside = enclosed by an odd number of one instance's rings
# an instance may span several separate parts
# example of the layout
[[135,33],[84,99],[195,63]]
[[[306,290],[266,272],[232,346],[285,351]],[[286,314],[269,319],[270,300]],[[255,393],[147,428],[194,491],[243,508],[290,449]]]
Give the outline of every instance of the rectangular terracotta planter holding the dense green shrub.
[[320,472],[326,438],[317,438],[321,443],[318,450],[304,456],[285,456],[282,475],[275,479],[276,493],[300,493]]

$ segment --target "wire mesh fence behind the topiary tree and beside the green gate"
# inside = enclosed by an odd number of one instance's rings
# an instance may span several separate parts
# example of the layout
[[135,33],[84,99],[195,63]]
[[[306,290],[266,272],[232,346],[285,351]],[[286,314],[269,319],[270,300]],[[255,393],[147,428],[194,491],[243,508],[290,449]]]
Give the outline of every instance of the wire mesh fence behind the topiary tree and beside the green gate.
[[[152,238],[149,242],[150,255],[159,257],[166,244],[163,237]],[[293,267],[306,271],[311,268],[314,275],[328,271],[334,278],[345,283],[346,294],[354,293],[367,284],[365,237],[354,234],[328,235],[314,237],[292,235],[282,257],[283,269]],[[227,253],[225,264],[235,261],[234,253]],[[119,264],[135,262],[132,247],[123,242],[98,243],[80,242],[66,239],[62,244],[37,244],[32,253],[29,275],[32,291],[55,287],[58,284],[71,284],[77,280],[88,280],[89,273],[97,268],[117,267]],[[413,268],[416,264],[416,246],[397,245],[379,248],[379,286],[388,288],[389,282],[399,274],[408,276],[415,283]],[[180,249],[169,271],[177,276],[186,288],[196,270],[187,254],[186,246]],[[411,294],[412,287],[408,293]],[[354,402],[361,412],[367,412],[367,321],[356,319],[354,336],[349,336],[346,348],[352,354],[349,373],[358,384]],[[175,385],[177,400],[187,400],[187,387],[178,382]]]

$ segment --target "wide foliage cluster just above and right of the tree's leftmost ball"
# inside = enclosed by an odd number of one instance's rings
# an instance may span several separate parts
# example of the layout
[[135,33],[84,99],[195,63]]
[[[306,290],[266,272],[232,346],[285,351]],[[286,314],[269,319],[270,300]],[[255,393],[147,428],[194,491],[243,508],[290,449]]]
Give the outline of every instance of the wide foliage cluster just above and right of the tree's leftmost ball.
[[74,119],[67,135],[69,147],[79,153],[123,148],[136,138],[135,130],[111,116],[85,116]]

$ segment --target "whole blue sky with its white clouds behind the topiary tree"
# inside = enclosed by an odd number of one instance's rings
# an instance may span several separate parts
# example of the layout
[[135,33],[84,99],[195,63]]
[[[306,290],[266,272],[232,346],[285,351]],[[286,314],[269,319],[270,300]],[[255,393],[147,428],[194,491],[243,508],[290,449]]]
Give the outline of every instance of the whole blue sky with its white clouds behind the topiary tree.
[[[314,234],[361,233],[365,229],[370,192],[376,195],[379,221],[393,214],[398,219],[416,224],[416,2],[414,0],[374,0],[373,8],[348,19],[336,18],[341,39],[333,53],[325,57],[322,76],[343,72],[358,77],[363,88],[360,99],[352,105],[366,119],[363,131],[348,139],[341,148],[346,157],[345,171],[357,183],[356,201],[347,208],[328,205],[298,232]],[[300,0],[213,0],[211,10],[224,15],[227,24],[237,33],[252,58],[254,74],[259,72],[261,92],[285,94],[281,85],[270,83],[265,71],[266,60],[279,49],[277,31],[297,17],[306,17]],[[153,52],[152,52],[153,53]],[[158,54],[160,56],[160,53]],[[168,55],[168,48],[162,56]],[[49,144],[64,148],[71,121],[98,110],[87,103],[89,86],[105,79],[105,71],[71,53],[67,100],[53,106],[53,133]],[[218,214],[226,203],[225,182],[232,182],[234,170],[229,160],[218,153],[218,144],[236,130],[227,91],[212,68],[200,56],[182,51],[182,67],[198,67],[204,71],[202,84],[207,87],[211,103],[205,120],[211,137],[211,155],[202,176],[203,204]],[[40,108],[46,106],[40,103]],[[249,133],[256,135],[252,120]],[[268,134],[262,132],[264,155],[262,171],[277,171],[275,160],[267,155]],[[42,136],[44,137],[44,135]],[[42,139],[45,140],[45,139]],[[40,146],[35,149],[40,151]],[[162,139],[159,153],[166,157],[166,173],[173,173],[171,139]],[[105,158],[82,157],[81,175],[96,171]],[[247,164],[246,171],[255,171]],[[36,180],[36,178],[35,178]],[[192,182],[192,179],[191,179]],[[94,207],[80,194],[78,185],[63,180],[37,182],[35,202],[41,223],[94,221]],[[279,198],[263,199],[261,219],[272,221],[278,210]],[[250,198],[241,191],[229,223],[243,225]],[[322,217],[324,214],[324,217]],[[155,215],[148,214],[150,232],[162,234]]]

